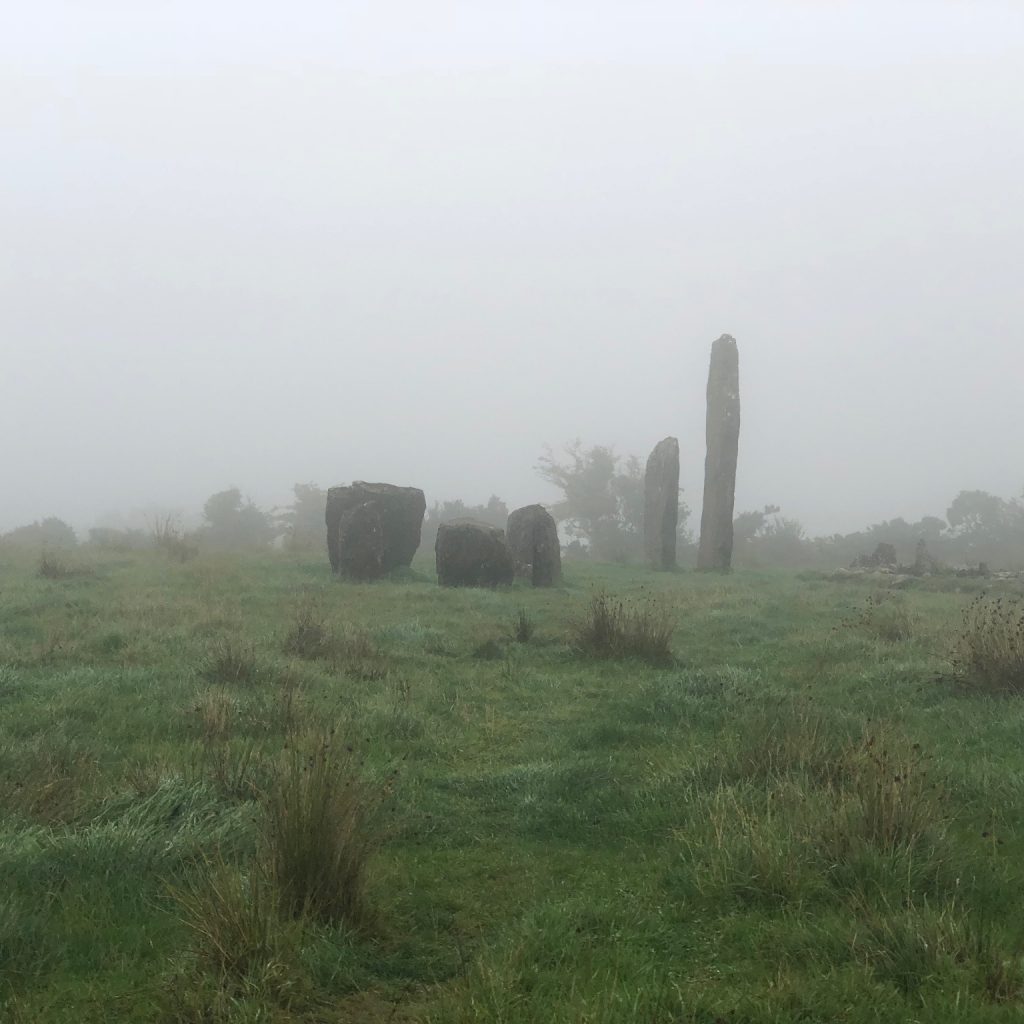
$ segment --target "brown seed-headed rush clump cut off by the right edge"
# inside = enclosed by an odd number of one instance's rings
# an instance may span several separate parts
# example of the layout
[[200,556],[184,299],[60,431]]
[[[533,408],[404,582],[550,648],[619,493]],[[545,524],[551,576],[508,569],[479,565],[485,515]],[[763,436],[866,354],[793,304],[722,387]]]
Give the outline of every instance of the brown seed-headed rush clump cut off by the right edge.
[[953,668],[966,683],[982,690],[1024,690],[1024,605],[984,594],[976,597],[964,612]]

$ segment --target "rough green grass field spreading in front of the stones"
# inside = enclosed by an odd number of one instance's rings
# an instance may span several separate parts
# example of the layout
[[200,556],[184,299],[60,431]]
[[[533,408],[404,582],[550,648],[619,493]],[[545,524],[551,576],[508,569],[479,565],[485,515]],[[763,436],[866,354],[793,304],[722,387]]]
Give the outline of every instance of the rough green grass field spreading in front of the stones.
[[[980,583],[61,557],[0,551],[4,1021],[1024,1014],[1024,712],[951,662]],[[672,659],[578,650],[598,589]],[[310,793],[326,889],[282,852]]]

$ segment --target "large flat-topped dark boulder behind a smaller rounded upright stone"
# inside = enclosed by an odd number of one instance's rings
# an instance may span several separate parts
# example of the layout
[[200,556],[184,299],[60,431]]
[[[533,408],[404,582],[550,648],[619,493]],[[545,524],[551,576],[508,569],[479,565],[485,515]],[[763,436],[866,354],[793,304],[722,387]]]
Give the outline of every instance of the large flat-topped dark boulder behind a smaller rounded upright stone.
[[[344,487],[331,487],[327,493],[325,520],[327,550],[331,558],[331,568],[335,572],[342,571],[342,562],[346,557],[342,552],[342,517],[346,512],[367,503],[374,503],[377,506],[376,514],[380,519],[381,556],[378,575],[385,575],[399,566],[410,565],[416,549],[420,546],[420,532],[423,528],[427,501],[419,487],[396,487],[392,483],[366,483],[362,480],[355,480]],[[367,536],[365,530],[372,518],[370,515],[361,517],[358,520],[361,531],[353,534],[350,526],[348,536],[350,538]]]

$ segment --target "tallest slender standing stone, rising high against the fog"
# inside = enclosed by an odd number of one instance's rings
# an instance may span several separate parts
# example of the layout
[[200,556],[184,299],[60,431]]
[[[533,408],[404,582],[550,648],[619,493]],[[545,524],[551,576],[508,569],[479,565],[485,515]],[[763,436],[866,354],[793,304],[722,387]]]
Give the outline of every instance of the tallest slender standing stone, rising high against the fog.
[[723,334],[711,348],[708,374],[708,457],[705,460],[698,569],[732,566],[732,511],[739,449],[739,352]]

